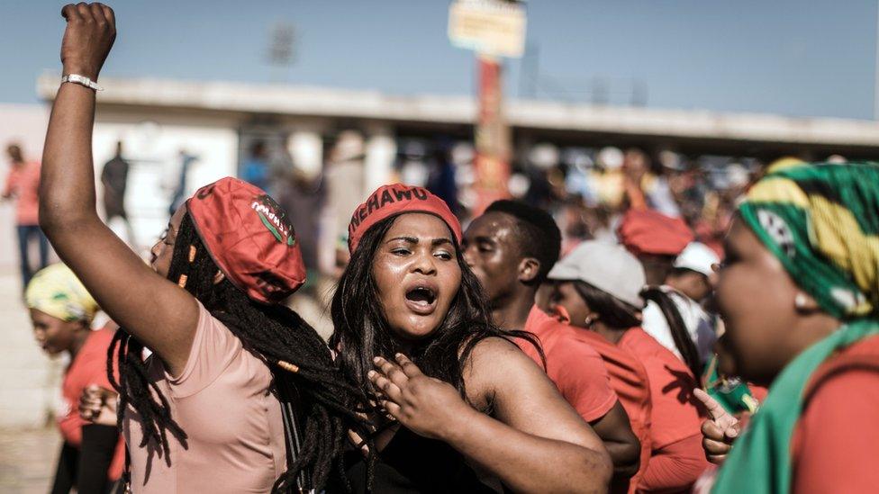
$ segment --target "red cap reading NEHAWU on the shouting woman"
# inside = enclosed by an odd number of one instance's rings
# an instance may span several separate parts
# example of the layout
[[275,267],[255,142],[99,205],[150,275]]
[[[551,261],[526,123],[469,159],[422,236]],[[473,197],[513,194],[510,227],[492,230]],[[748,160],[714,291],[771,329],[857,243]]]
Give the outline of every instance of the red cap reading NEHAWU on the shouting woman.
[[421,187],[390,184],[376,189],[367,202],[360,204],[354,210],[348,225],[349,251],[353,253],[357,249],[360,238],[369,227],[403,212],[427,212],[439,216],[439,219],[445,221],[452,230],[458,244],[461,243],[461,223],[449,210],[445,201]]

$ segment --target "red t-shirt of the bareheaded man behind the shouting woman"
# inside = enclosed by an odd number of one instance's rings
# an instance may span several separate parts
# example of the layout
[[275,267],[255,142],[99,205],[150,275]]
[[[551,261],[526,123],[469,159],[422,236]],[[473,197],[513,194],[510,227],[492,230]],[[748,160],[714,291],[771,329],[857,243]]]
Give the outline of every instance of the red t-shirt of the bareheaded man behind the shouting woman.
[[[547,375],[558,391],[586,422],[604,417],[617,395],[604,368],[601,355],[578,339],[575,329],[549,317],[535,305],[531,308],[525,330],[538,337],[547,358]],[[540,355],[528,341],[516,343],[541,367]]]

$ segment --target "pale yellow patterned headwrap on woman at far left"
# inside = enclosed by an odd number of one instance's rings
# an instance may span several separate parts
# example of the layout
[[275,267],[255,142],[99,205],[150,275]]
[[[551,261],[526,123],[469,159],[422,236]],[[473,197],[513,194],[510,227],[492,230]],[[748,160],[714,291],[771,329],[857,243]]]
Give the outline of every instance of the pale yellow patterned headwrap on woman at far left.
[[91,322],[98,310],[97,302],[63,264],[50,265],[33,275],[24,292],[28,309],[41,310],[63,321]]

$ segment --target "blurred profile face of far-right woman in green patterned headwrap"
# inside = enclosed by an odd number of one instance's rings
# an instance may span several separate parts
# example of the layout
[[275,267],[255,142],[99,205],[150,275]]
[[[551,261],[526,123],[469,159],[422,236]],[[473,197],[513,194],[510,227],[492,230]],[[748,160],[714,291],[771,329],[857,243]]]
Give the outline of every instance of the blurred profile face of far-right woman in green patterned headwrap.
[[752,382],[772,382],[786,355],[797,351],[792,347],[797,287],[742,220],[729,229],[725,250],[716,292],[726,324],[718,342],[720,370]]

